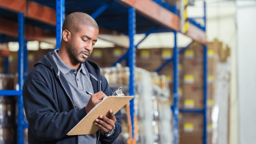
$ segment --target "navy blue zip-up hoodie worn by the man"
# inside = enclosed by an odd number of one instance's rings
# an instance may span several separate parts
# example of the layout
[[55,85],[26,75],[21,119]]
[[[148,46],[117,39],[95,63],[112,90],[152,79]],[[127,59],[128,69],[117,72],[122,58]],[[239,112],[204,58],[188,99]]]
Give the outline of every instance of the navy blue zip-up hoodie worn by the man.
[[[30,144],[78,144],[78,136],[67,133],[86,116],[85,108],[74,108],[73,97],[67,80],[59,71],[50,52],[34,64],[23,86],[23,102],[28,119]],[[100,73],[97,63],[86,60],[94,93],[103,91],[112,96],[108,81]],[[115,114],[116,129],[106,137],[97,133],[98,144],[111,144],[121,133],[121,112]]]

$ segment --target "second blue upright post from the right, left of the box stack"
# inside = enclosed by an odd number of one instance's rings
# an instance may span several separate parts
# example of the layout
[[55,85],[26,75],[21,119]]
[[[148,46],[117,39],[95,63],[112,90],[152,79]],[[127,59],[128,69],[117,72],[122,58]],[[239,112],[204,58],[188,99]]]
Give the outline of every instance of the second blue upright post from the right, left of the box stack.
[[179,144],[179,48],[177,47],[177,31],[174,31],[173,98],[173,143]]

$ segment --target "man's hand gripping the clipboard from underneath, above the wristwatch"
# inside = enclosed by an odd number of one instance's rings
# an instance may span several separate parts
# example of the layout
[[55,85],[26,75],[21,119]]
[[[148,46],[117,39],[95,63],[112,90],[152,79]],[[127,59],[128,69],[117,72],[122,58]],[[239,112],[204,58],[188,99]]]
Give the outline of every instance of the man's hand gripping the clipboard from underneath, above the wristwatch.
[[116,117],[112,110],[109,111],[108,116],[100,115],[95,120],[95,125],[101,128],[102,133],[107,133],[115,126]]

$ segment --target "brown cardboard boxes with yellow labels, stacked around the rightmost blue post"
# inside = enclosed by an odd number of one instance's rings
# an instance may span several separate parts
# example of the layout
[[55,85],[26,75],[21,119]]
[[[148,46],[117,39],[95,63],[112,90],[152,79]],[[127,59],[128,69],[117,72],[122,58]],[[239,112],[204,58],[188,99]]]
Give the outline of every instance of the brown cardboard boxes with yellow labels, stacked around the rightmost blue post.
[[[208,144],[212,138],[211,107],[214,98],[214,77],[216,76],[216,54],[215,46],[208,46]],[[193,42],[183,54],[181,54],[183,71],[181,75],[180,88],[183,93],[179,98],[180,109],[203,109],[204,108],[204,85],[203,85],[203,46]],[[203,114],[180,113],[179,133],[180,144],[202,144],[203,143]]]

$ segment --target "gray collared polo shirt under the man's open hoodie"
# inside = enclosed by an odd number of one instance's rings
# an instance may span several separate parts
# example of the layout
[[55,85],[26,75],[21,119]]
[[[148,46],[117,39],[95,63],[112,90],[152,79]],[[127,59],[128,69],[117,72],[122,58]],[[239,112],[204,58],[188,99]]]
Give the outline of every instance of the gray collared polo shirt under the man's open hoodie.
[[[59,49],[55,49],[52,57],[57,64],[58,69],[64,75],[71,89],[73,96],[74,106],[77,109],[85,107],[90,99],[90,95],[87,95],[85,91],[94,93],[93,85],[90,81],[90,76],[87,68],[84,64],[81,64],[80,69],[76,72],[76,69],[70,68],[64,63],[57,52]],[[79,135],[79,144],[96,144],[97,136],[95,134]]]

